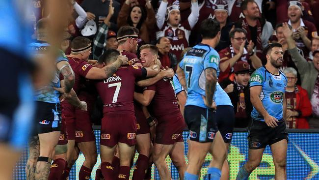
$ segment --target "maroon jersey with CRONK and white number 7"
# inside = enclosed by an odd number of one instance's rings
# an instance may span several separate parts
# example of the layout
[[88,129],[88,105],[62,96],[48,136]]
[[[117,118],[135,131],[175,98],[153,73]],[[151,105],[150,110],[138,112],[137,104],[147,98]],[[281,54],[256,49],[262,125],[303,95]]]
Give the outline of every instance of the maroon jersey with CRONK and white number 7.
[[103,101],[103,113],[126,111],[134,114],[135,79],[144,78],[146,69],[136,65],[120,67],[112,77],[96,82]]

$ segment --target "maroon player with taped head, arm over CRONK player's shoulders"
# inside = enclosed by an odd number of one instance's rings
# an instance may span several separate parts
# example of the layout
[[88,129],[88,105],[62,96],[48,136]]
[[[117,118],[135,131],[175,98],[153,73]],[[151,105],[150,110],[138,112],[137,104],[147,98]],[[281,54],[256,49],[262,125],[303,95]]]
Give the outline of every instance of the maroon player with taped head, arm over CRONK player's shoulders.
[[[90,121],[90,113],[96,98],[94,90],[88,85],[87,79],[104,79],[110,77],[122,64],[127,64],[127,58],[119,56],[113,64],[103,68],[97,68],[88,63],[88,57],[91,54],[91,41],[85,37],[76,37],[71,43],[71,55],[68,56],[70,65],[75,72],[76,80],[74,90],[80,100],[87,102],[88,111],[80,109],[63,102],[63,112],[65,116],[68,132],[68,167],[65,169],[62,178],[65,179],[78,158],[80,149],[85,157],[85,161],[79,172],[79,179],[85,180],[90,177],[92,168],[97,160],[97,151],[95,147],[95,136]],[[77,143],[77,145],[76,145]]]

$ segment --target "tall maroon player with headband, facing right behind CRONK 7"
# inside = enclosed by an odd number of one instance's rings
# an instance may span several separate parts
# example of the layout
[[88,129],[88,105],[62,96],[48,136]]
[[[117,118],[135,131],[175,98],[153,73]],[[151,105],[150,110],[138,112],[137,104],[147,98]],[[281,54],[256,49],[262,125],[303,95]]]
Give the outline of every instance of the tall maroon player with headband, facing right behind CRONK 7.
[[[142,66],[140,60],[136,56],[137,51],[137,37],[138,30],[134,27],[123,26],[117,32],[118,39],[118,50],[129,59],[129,64],[134,64],[137,66]],[[157,76],[149,78],[146,80],[141,80],[136,83],[135,90],[140,90],[140,87],[146,87],[153,85],[163,77],[172,77],[174,71],[169,69],[165,72],[160,72]],[[135,117],[137,120],[137,132],[136,132],[136,149],[139,153],[138,159],[136,161],[133,180],[139,180],[144,177],[145,170],[149,164],[149,156],[151,150],[151,139],[150,139],[150,127],[147,124],[146,118],[143,114],[142,107],[139,103],[134,101],[134,111]],[[152,119],[152,118],[151,118]],[[150,119],[150,120],[151,120]],[[114,172],[116,171],[116,164],[119,161],[118,157],[114,156],[112,165],[115,167]]]

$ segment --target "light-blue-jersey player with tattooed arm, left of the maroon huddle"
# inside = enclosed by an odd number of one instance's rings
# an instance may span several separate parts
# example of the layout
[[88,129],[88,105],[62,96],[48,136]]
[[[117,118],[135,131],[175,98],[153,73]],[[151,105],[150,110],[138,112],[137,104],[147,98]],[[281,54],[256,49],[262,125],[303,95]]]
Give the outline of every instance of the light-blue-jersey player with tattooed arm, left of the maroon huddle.
[[[49,57],[49,48],[54,51],[53,47],[50,47],[46,42],[48,40],[48,29],[49,19],[39,20],[36,25],[37,42],[30,44],[30,49],[33,50],[39,60],[44,60],[43,57]],[[35,92],[36,124],[34,134],[29,140],[30,155],[26,166],[27,180],[33,178],[36,180],[48,179],[49,177],[48,172],[50,172],[61,128],[60,93],[54,88],[60,88],[60,73],[64,77],[65,93],[71,92],[75,81],[74,72],[64,53],[60,50],[55,50],[55,52],[57,58],[55,59],[53,79],[51,79],[49,85],[40,87]]]

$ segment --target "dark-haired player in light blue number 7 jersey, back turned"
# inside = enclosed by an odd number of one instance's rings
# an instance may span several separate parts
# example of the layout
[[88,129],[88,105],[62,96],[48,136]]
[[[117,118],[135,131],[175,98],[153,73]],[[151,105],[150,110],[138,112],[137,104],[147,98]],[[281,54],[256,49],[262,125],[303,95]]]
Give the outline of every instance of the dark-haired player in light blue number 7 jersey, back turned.
[[[201,24],[202,42],[190,49],[180,62],[177,75],[187,90],[184,117],[189,129],[188,166],[184,180],[197,180],[204,158],[210,150],[214,163],[209,180],[219,180],[226,148],[215,121],[213,95],[219,73],[219,55],[213,49],[219,42],[220,25],[206,19]],[[213,142],[213,150],[211,145]]]

